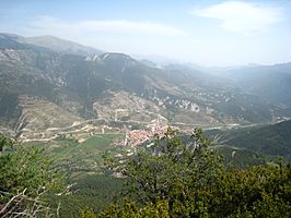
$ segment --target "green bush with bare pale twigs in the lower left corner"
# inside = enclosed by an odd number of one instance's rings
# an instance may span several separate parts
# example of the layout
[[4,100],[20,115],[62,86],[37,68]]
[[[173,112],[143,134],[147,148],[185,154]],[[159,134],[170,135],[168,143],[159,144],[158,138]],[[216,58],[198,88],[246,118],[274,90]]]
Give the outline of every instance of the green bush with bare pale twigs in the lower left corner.
[[[13,144],[2,136],[0,142],[2,147]],[[51,167],[51,161],[40,149],[13,145],[13,149],[1,152],[1,216],[38,216],[43,209],[47,211],[48,194],[63,191],[61,177]]]

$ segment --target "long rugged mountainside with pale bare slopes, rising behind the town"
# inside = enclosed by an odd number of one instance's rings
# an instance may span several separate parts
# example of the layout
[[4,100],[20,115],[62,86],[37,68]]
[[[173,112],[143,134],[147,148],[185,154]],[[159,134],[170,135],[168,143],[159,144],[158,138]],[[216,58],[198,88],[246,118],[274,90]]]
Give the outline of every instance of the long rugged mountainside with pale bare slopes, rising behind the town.
[[273,122],[289,110],[240,86],[187,65],[158,69],[51,36],[0,34],[0,131],[19,138],[49,138],[88,120],[191,129]]

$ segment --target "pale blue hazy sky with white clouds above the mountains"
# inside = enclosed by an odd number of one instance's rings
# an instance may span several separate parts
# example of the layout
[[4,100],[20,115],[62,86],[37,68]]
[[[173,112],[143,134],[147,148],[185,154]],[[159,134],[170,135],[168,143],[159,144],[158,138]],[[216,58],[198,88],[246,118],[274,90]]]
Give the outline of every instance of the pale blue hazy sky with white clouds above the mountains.
[[291,61],[291,1],[0,0],[0,32],[203,65]]

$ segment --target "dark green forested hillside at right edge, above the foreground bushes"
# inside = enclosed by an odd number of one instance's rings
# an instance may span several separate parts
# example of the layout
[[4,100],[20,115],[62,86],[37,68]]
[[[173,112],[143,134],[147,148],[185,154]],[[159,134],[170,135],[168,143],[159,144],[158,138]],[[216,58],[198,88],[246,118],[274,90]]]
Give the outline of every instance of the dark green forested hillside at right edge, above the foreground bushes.
[[208,131],[224,147],[248,149],[251,152],[291,159],[291,121],[277,124],[219,131]]

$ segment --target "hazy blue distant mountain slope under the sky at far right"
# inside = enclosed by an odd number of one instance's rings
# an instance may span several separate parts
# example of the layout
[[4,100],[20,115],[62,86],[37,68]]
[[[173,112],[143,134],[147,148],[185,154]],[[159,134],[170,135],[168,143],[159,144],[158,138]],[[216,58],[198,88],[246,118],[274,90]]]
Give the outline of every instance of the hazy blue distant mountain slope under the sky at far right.
[[272,104],[291,106],[291,63],[224,69],[221,76]]

